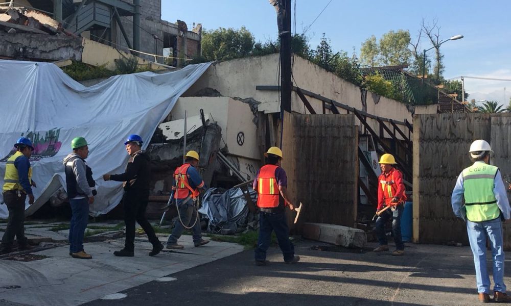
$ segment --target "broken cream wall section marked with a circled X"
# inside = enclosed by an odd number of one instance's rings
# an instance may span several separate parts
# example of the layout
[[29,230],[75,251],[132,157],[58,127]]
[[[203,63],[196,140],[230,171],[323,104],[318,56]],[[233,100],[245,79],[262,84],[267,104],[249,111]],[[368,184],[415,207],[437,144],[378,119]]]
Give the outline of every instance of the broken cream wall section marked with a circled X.
[[[189,117],[197,116],[200,109],[204,110],[204,114],[211,114],[220,125],[229,154],[261,159],[257,146],[257,125],[252,122],[254,116],[248,104],[229,97],[180,97],[170,112],[171,120],[184,118],[185,110]],[[240,132],[244,135],[242,145],[237,141]],[[223,147],[223,143],[220,146]]]

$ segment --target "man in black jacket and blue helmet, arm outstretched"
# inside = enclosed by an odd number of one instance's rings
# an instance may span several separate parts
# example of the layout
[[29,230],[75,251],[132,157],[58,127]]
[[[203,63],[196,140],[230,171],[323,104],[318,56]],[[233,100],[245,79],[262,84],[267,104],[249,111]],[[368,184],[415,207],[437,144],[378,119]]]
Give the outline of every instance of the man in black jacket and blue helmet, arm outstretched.
[[126,241],[122,250],[113,252],[115,256],[134,256],[135,221],[142,226],[149,242],[153,245],[149,256],[155,256],[164,248],[156,234],[154,234],[151,223],[146,218],[151,165],[149,156],[142,150],[142,143],[142,137],[135,134],[130,135],[124,143],[130,156],[126,171],[122,174],[103,175],[105,181],[124,182],[123,208]]

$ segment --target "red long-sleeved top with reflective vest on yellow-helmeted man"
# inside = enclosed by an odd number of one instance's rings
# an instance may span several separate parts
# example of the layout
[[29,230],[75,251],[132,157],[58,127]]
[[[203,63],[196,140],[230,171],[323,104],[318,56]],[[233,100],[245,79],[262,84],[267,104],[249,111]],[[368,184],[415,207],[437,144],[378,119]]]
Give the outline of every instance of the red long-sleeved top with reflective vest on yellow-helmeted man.
[[[398,202],[392,202],[393,197],[398,197]],[[403,184],[403,174],[396,168],[392,168],[388,174],[382,173],[378,177],[378,208],[384,206],[396,205],[401,201],[406,201],[405,184]]]

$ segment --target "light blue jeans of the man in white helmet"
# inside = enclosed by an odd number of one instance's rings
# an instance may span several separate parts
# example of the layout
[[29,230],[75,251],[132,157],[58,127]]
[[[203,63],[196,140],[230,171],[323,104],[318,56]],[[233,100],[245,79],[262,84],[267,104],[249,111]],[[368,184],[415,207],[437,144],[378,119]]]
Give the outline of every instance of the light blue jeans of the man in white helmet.
[[493,258],[493,290],[506,292],[504,284],[504,249],[502,236],[502,222],[500,218],[472,222],[467,220],[467,233],[469,234],[470,248],[474,254],[476,268],[477,291],[490,293],[490,276],[486,270],[486,237],[490,239]]

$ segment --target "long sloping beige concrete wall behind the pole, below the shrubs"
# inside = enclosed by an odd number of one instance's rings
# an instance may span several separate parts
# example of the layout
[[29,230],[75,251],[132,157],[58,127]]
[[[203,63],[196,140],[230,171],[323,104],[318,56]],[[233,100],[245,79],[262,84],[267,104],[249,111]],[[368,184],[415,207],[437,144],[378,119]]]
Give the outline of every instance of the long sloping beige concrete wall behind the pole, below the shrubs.
[[[255,89],[257,85],[280,83],[277,67],[278,54],[219,62],[208,68],[206,73],[184,93],[184,96],[194,95],[200,89],[210,87],[218,90],[223,96],[253,97],[261,102],[259,111],[277,112],[279,108],[278,92]],[[299,88],[376,116],[397,121],[406,119],[411,122],[415,110],[420,113],[436,113],[436,105],[407,107],[399,101],[369,91],[361,91],[358,86],[298,56],[294,58],[293,77],[294,85]],[[316,113],[322,113],[322,102],[312,97],[307,98]],[[292,111],[301,114],[308,113],[303,102],[294,92],[292,93]],[[347,113],[343,109],[339,109],[339,111]],[[356,124],[361,125],[358,119]],[[379,123],[376,120],[368,119],[368,124],[373,130],[380,131]],[[386,133],[383,133],[382,136],[388,137]]]

